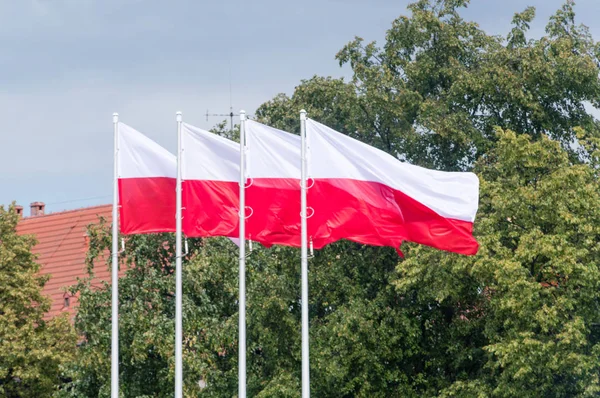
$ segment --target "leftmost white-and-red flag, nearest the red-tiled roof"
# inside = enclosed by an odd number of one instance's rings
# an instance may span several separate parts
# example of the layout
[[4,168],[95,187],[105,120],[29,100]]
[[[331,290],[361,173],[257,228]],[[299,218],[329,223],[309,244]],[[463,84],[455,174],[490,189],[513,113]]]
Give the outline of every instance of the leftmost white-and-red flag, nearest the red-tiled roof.
[[118,124],[119,217],[122,234],[175,231],[175,155]]

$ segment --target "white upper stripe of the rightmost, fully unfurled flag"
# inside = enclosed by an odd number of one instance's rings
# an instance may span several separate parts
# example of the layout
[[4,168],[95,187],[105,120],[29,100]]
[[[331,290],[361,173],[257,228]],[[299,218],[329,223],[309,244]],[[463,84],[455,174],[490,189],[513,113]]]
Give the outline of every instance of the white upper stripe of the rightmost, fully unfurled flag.
[[311,178],[376,182],[401,191],[443,217],[474,221],[479,179],[473,173],[429,170],[397,158],[314,120],[310,137]]

